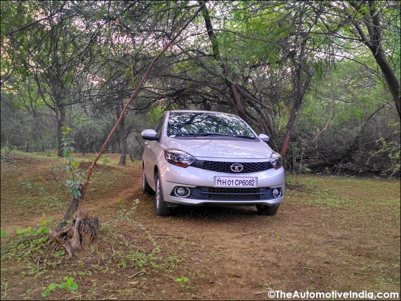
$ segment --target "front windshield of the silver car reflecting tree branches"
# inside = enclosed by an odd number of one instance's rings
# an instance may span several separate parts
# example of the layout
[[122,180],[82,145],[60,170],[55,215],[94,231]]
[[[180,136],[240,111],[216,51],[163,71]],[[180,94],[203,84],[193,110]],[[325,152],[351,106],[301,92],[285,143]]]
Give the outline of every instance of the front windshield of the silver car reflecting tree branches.
[[229,136],[256,139],[239,117],[208,112],[171,112],[167,136]]

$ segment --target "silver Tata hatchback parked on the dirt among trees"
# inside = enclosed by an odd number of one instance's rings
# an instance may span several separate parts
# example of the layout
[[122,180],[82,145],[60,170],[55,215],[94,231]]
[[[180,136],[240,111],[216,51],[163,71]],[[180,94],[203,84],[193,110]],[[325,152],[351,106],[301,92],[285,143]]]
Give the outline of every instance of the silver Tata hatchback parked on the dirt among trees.
[[142,190],[155,191],[156,215],[180,204],[256,206],[273,215],[283,201],[281,156],[238,116],[168,111],[142,138]]

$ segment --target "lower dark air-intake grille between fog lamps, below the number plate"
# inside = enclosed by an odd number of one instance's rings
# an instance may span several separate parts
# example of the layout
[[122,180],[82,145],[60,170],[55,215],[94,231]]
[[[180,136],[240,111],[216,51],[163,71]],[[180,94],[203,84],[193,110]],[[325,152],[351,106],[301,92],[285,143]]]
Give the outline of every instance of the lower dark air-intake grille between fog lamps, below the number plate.
[[273,199],[270,188],[230,188],[196,187],[191,188],[189,198],[220,201],[249,201]]

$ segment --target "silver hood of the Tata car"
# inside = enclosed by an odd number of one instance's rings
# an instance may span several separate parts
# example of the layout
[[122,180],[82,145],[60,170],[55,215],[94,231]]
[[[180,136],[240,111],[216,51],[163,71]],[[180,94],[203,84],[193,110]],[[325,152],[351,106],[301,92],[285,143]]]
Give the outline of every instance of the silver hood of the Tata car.
[[197,157],[269,159],[272,149],[263,141],[246,139],[174,139],[167,137],[166,147]]

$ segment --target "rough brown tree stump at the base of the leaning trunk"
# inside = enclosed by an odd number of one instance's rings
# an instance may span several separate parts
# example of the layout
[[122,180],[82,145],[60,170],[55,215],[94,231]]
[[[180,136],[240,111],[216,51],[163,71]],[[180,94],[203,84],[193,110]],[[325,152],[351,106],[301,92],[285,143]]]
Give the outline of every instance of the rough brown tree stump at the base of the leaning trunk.
[[80,251],[82,248],[89,251],[90,247],[98,249],[98,227],[99,220],[97,217],[91,216],[89,212],[83,208],[77,211],[75,219],[65,225],[60,231],[52,229],[50,237],[60,243],[72,257],[73,252]]

